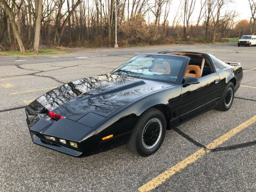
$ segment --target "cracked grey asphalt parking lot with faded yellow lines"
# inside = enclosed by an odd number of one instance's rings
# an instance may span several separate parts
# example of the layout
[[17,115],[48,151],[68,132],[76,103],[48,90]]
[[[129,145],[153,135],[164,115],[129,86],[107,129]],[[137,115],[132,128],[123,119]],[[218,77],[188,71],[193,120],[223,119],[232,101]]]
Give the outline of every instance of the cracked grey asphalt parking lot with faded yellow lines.
[[[139,53],[186,50],[241,62],[244,77],[226,112],[210,110],[166,132],[149,157],[126,146],[75,158],[34,145],[25,106],[82,77],[109,73]],[[179,45],[0,55],[0,191],[256,191],[256,46]],[[204,147],[206,146],[207,150]]]

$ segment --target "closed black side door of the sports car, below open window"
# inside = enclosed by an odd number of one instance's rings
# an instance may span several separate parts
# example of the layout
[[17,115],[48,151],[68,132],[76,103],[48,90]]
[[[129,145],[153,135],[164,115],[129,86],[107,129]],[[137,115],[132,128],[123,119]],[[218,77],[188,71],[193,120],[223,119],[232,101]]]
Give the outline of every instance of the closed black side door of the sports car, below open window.
[[217,105],[220,98],[220,77],[213,72],[198,79],[199,84],[181,85],[181,121],[194,117]]

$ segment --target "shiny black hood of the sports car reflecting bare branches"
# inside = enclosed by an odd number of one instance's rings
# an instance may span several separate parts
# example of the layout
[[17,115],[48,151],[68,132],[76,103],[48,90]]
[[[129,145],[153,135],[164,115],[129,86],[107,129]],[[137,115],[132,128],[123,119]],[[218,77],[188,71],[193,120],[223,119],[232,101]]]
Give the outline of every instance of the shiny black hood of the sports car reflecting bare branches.
[[173,84],[107,74],[64,84],[36,101],[53,113],[77,121],[90,112],[107,117],[143,95],[170,86]]

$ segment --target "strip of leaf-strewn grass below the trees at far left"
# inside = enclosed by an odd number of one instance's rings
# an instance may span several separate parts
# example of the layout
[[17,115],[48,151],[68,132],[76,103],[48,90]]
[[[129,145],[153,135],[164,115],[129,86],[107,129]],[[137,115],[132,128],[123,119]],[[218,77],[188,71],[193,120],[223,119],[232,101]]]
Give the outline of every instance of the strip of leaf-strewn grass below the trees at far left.
[[18,56],[34,56],[34,55],[47,55],[47,54],[67,54],[69,51],[61,51],[60,49],[42,49],[39,50],[39,53],[33,53],[27,51],[27,53],[21,53],[19,51],[0,51],[0,54],[6,55],[18,55]]

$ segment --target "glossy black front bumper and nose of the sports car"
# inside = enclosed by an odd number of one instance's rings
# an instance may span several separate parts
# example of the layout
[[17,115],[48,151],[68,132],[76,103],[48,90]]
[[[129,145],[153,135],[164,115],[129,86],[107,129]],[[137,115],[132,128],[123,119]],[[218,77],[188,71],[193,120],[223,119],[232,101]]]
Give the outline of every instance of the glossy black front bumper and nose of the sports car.
[[[28,127],[35,144],[61,153],[78,157],[90,155],[99,149],[98,135],[94,130],[66,118],[54,123],[41,119],[31,127],[28,122]],[[45,135],[55,137],[57,140],[45,139]],[[59,142],[59,139],[65,139],[67,143],[63,144]],[[70,146],[69,142],[76,142],[78,148]]]

